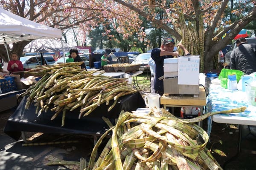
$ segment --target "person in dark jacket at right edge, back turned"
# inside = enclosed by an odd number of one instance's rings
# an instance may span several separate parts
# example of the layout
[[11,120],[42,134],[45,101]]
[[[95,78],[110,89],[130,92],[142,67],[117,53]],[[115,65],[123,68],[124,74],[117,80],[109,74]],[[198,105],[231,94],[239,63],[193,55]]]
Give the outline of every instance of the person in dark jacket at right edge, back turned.
[[256,72],[256,44],[249,44],[241,37],[236,40],[236,46],[230,55],[230,68],[247,75]]

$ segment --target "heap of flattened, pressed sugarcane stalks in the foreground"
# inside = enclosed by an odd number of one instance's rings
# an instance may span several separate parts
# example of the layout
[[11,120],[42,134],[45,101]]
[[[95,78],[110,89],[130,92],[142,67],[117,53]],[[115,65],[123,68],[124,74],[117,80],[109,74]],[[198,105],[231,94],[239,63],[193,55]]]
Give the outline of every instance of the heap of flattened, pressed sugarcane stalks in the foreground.
[[[115,126],[99,138],[86,170],[218,170],[206,148],[207,133],[195,122],[219,113],[243,112],[246,107],[179,119],[162,109],[148,114],[121,112]],[[98,160],[98,147],[112,131]]]

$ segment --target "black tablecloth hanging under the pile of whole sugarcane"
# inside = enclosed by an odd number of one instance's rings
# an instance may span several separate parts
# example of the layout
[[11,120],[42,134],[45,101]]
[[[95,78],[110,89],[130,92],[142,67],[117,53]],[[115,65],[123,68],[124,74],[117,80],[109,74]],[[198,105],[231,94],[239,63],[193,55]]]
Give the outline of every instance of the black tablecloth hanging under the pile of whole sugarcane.
[[[4,132],[10,137],[18,140],[21,131],[25,132],[42,132],[42,133],[80,133],[86,135],[102,135],[108,129],[108,125],[103,121],[102,116],[110,118],[115,124],[114,119],[118,118],[122,110],[131,112],[138,107],[145,107],[145,102],[139,92],[126,95],[118,99],[115,107],[108,112],[108,108],[113,104],[110,101],[109,105],[102,104],[97,107],[89,115],[78,118],[80,108],[67,111],[65,124],[61,127],[62,114],[60,113],[54,120],[50,120],[55,112],[42,112],[40,116],[35,114],[36,107],[30,105],[29,109],[24,109],[26,104],[24,97],[17,107],[13,115],[7,120]],[[38,117],[37,117],[38,116]]]

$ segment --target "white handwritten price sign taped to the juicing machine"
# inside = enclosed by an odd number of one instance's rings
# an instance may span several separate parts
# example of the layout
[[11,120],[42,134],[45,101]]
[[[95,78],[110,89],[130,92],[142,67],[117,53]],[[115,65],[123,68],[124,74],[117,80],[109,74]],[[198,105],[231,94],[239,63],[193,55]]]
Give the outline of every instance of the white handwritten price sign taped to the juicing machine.
[[199,84],[199,55],[180,56],[178,58],[178,84]]

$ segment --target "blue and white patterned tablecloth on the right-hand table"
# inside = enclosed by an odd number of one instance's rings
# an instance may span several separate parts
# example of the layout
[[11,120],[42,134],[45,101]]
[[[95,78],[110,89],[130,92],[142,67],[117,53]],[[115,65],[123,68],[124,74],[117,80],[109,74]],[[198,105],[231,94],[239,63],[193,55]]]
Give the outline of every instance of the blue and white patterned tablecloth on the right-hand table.
[[[247,101],[246,92],[239,90],[224,89],[220,85],[211,84],[209,87],[209,95],[207,96],[207,105],[205,113],[217,112],[238,107],[247,107],[244,112],[221,114],[222,116],[236,116],[241,121],[243,118],[250,118],[256,121],[256,107],[249,104]],[[241,123],[242,124],[242,123]],[[207,133],[210,135],[212,130],[212,116],[208,118]]]

